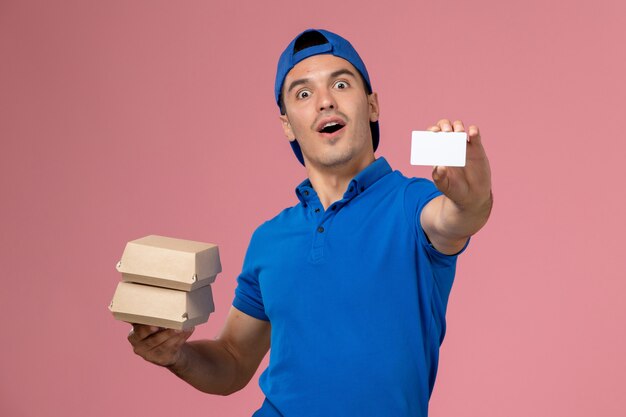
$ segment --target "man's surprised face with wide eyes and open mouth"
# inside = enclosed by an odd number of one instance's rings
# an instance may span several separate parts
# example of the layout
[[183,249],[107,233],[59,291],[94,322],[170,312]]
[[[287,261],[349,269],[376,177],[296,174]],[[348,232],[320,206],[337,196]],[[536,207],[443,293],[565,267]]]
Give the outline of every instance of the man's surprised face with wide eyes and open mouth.
[[307,58],[287,74],[282,94],[285,135],[297,138],[307,167],[373,160],[370,121],[378,120],[378,99],[348,61]]

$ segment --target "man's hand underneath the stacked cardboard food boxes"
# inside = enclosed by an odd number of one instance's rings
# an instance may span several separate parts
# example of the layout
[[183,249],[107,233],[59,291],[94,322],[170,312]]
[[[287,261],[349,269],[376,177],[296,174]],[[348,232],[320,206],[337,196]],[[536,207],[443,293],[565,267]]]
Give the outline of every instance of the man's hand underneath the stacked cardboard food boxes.
[[156,365],[170,367],[180,362],[182,346],[194,329],[187,331],[133,324],[128,341],[133,351]]

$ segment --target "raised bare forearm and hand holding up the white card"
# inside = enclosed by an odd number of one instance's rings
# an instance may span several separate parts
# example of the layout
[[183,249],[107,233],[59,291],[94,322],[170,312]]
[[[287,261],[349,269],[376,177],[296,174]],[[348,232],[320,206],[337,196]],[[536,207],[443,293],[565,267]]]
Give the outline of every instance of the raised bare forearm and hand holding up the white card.
[[[428,130],[465,132],[465,126],[460,120],[441,119]],[[446,254],[460,251],[491,213],[491,169],[478,127],[469,127],[467,142],[464,167],[433,168],[433,181],[444,195],[428,203],[420,218],[431,243]]]

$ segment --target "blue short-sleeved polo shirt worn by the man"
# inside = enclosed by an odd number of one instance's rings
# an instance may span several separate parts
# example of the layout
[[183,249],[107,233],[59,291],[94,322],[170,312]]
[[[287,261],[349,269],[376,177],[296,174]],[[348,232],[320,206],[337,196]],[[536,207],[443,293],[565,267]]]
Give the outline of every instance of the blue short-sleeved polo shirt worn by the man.
[[327,210],[305,180],[254,232],[233,305],[272,327],[255,417],[427,415],[457,259],[420,225],[440,194],[378,158]]

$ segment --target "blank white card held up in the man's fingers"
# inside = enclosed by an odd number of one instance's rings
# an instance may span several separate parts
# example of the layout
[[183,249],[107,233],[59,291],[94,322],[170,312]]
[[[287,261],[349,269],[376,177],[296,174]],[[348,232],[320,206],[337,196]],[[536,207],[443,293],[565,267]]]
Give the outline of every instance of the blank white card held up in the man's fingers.
[[414,130],[411,137],[411,165],[464,167],[465,132]]

